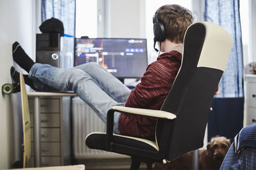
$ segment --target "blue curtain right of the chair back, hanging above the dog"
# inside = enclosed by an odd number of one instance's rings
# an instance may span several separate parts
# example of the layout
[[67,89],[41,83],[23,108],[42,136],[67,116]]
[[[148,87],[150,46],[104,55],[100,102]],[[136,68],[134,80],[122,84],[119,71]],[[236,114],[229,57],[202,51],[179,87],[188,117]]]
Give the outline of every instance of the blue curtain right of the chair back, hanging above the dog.
[[[233,38],[228,64],[220,81],[221,94],[214,97],[208,139],[220,135],[233,139],[243,127],[243,46],[239,0],[205,0],[205,21],[226,29]],[[218,51],[216,51],[218,55]]]

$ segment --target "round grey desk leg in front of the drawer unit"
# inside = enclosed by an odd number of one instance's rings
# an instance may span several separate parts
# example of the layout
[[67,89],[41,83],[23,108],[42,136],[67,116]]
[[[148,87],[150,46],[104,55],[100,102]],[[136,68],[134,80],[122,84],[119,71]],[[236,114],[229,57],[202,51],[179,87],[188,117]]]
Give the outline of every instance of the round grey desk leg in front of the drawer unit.
[[41,114],[40,98],[34,97],[34,155],[35,167],[41,166]]

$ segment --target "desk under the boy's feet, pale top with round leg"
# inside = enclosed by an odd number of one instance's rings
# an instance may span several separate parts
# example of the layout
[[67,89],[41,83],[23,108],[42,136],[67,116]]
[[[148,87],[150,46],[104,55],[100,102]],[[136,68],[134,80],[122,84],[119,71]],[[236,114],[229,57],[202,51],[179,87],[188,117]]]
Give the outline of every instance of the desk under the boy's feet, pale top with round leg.
[[35,167],[41,166],[41,117],[40,117],[40,97],[64,97],[77,96],[74,93],[59,92],[28,92],[29,97],[33,97],[34,111],[34,157]]

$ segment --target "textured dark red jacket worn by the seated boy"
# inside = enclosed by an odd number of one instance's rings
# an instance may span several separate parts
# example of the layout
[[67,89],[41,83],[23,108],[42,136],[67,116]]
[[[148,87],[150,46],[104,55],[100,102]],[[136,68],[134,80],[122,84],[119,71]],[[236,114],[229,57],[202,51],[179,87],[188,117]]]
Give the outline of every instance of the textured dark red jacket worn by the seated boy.
[[[179,71],[181,53],[166,52],[148,65],[141,83],[132,90],[125,107],[160,110]],[[154,136],[157,118],[121,113],[119,131],[123,135],[150,138]]]

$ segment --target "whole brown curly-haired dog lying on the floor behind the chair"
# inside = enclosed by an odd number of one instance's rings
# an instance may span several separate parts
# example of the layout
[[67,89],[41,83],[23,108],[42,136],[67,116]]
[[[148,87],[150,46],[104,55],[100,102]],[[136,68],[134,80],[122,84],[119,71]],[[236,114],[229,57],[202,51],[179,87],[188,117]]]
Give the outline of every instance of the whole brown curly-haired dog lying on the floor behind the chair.
[[[199,170],[220,169],[230,145],[230,141],[225,137],[215,136],[212,138],[207,144],[207,150],[199,150]],[[191,169],[191,161],[191,153],[187,153],[167,164],[156,163],[154,170],[189,170]]]

